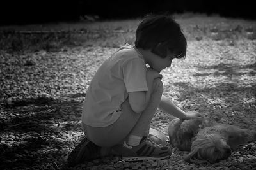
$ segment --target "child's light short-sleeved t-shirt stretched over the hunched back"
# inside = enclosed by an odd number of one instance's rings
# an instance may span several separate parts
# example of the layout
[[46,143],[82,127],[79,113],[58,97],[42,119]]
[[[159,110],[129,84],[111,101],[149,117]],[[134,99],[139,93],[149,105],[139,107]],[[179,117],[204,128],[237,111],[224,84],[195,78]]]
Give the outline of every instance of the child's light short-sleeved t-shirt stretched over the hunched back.
[[93,127],[113,124],[129,92],[148,91],[145,60],[135,47],[126,44],[98,69],[83,103],[82,122]]

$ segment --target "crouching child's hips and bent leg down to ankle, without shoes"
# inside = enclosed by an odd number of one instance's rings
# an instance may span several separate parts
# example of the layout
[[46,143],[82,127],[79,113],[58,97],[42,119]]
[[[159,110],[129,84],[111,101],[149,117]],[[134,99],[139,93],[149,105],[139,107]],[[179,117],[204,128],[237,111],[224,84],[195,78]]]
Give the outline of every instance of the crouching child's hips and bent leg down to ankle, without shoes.
[[[152,83],[153,90],[147,108],[142,113],[135,113],[128,99],[122,104],[122,113],[115,123],[108,127],[90,127],[83,124],[84,133],[98,146],[111,147],[122,143],[129,136],[148,136],[150,122],[157,110],[163,93],[163,83],[157,78]],[[138,140],[140,143],[140,140]]]

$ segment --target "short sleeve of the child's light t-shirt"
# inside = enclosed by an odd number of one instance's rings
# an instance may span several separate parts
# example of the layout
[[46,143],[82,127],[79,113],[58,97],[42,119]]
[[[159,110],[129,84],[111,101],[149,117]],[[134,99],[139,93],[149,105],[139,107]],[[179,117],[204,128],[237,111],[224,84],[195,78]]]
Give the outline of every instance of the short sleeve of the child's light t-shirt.
[[146,72],[145,62],[140,58],[125,62],[123,75],[127,92],[148,91]]

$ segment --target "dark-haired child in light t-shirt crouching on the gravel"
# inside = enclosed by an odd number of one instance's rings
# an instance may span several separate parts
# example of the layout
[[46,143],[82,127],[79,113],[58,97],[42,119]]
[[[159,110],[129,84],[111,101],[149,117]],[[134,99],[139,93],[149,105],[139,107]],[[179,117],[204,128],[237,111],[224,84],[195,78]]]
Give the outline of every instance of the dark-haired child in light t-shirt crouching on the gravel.
[[172,155],[170,148],[156,145],[147,136],[157,108],[181,119],[200,117],[185,113],[162,95],[160,72],[174,58],[184,58],[186,47],[180,25],[172,17],[145,17],[136,30],[135,46],[119,48],[93,77],[83,104],[86,137],[70,153],[68,163],[75,165],[110,153],[127,161]]

